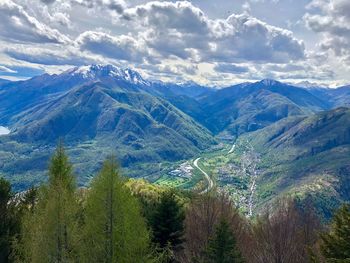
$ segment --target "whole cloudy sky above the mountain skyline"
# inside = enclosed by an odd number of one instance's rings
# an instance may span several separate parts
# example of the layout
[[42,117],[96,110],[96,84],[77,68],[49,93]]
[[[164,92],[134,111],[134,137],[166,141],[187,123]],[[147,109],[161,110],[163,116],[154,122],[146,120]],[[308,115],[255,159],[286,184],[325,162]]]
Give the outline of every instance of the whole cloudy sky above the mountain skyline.
[[0,78],[114,64],[224,86],[350,83],[349,0],[0,0]]

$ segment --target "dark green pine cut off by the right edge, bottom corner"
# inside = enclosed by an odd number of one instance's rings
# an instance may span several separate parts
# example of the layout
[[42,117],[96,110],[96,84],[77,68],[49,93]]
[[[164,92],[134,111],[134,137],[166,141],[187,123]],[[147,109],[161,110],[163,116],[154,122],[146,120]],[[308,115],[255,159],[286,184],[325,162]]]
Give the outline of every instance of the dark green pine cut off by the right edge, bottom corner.
[[335,214],[329,233],[321,235],[321,251],[326,262],[350,262],[350,204]]

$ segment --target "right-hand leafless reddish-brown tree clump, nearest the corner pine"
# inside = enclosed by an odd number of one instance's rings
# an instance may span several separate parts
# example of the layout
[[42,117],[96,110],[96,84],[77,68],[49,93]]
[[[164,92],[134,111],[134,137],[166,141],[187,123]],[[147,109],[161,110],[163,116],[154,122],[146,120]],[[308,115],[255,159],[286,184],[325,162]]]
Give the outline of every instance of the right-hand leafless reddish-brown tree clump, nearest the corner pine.
[[278,200],[273,212],[259,217],[253,227],[253,262],[310,262],[308,250],[317,240],[315,220],[312,210],[302,213],[294,200]]

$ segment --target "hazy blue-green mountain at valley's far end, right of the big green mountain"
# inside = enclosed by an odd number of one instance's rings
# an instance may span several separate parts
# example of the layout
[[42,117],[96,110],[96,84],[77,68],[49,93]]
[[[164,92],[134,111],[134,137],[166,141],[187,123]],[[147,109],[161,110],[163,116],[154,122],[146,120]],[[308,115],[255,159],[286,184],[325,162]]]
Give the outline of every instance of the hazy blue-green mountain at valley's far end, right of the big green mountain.
[[[205,110],[201,120],[197,120],[214,134],[233,137],[264,128],[285,117],[331,107],[327,100],[306,89],[269,79],[218,90],[201,98],[199,103]],[[190,114],[186,109],[184,111]]]

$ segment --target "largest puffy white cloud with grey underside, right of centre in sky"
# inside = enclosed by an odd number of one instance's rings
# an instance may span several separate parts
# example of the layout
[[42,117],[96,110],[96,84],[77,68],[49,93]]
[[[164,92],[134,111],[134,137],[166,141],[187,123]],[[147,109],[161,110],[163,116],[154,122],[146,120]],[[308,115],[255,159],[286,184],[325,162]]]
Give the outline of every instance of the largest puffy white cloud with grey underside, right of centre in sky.
[[209,19],[190,2],[155,1],[124,10],[123,18],[147,29],[145,42],[164,57],[277,63],[304,57],[304,44],[292,32],[248,14]]

